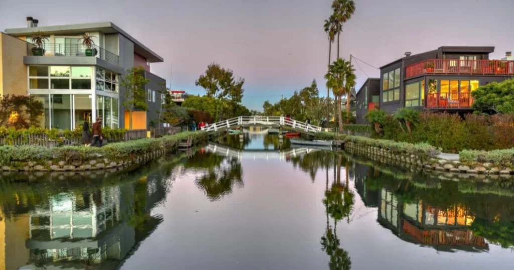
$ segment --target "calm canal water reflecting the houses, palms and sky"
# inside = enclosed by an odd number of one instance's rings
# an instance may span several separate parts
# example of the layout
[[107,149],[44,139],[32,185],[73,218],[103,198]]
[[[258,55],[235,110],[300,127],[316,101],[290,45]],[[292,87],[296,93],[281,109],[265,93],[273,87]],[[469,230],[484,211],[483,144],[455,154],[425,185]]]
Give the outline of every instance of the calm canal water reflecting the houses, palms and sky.
[[130,171],[0,174],[0,269],[514,267],[511,182],[278,148],[254,134]]

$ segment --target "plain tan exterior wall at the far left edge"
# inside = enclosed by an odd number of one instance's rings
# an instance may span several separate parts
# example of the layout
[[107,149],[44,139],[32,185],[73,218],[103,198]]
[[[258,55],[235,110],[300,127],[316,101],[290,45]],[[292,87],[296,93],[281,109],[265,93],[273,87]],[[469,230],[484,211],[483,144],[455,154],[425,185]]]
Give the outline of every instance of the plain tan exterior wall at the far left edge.
[[0,33],[0,95],[27,95],[26,55],[24,41]]

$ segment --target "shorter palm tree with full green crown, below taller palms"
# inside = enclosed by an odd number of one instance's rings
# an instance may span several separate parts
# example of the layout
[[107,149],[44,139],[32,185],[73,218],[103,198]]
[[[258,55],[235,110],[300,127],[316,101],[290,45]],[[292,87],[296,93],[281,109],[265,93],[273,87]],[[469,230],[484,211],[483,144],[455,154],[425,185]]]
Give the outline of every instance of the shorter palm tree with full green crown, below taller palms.
[[339,111],[339,130],[343,129],[342,113],[341,113],[341,96],[350,93],[350,88],[355,85],[355,69],[350,62],[344,59],[338,59],[334,61],[332,65],[328,67],[328,73],[325,75],[327,80],[326,86],[332,88],[335,97],[338,99],[338,111]]

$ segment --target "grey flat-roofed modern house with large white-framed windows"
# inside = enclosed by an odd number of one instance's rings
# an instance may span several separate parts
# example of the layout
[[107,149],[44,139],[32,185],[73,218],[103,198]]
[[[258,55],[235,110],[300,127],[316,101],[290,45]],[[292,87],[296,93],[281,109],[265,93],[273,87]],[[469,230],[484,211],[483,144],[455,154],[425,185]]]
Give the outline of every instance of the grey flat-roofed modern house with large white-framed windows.
[[[161,99],[156,91],[166,84],[150,71],[151,63],[163,62],[157,53],[111,22],[59,26],[38,23],[27,17],[27,27],[6,29],[7,34],[1,35],[2,47],[15,53],[2,50],[0,59],[9,59],[6,72],[19,81],[5,86],[4,76],[2,93],[33,95],[41,100],[45,106],[42,127],[74,129],[100,117],[104,127],[128,128],[128,112],[123,107],[125,91],[120,84],[126,70],[134,66],[144,68],[143,76],[150,83],[145,85],[149,110],[133,114],[133,129],[146,129],[149,121],[157,118],[155,111]],[[32,35],[39,31],[48,39],[42,49],[31,43]],[[93,35],[93,52],[80,41],[85,33]],[[14,42],[13,37],[25,42]],[[7,65],[2,66],[6,70]],[[10,70],[12,67],[15,71]]]

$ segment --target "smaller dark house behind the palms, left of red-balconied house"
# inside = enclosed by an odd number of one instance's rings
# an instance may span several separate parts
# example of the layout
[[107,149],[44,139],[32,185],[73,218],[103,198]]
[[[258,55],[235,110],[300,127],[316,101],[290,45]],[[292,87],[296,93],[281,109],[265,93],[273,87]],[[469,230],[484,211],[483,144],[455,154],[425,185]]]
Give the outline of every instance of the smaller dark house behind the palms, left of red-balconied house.
[[355,97],[355,117],[357,124],[368,124],[364,119],[369,110],[379,109],[380,78],[368,78]]

